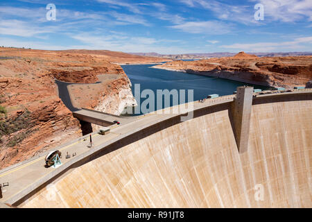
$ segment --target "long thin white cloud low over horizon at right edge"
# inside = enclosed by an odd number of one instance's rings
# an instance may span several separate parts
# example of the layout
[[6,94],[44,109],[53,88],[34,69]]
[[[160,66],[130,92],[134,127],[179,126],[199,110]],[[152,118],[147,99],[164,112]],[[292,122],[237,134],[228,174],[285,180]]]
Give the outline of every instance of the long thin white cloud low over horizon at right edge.
[[231,44],[220,46],[224,49],[236,49],[237,51],[250,51],[250,52],[268,52],[268,51],[289,51],[289,50],[311,50],[308,49],[306,44],[312,44],[312,36],[298,37],[293,41],[288,42],[258,42],[250,44]]

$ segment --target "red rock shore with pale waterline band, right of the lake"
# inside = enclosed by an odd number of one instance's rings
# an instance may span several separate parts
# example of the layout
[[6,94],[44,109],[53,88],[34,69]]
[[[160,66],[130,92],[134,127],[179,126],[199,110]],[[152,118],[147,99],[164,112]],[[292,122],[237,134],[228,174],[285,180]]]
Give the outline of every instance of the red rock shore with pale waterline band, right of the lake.
[[227,58],[174,61],[154,68],[238,80],[270,87],[304,86],[312,79],[312,56],[262,57],[244,52]]

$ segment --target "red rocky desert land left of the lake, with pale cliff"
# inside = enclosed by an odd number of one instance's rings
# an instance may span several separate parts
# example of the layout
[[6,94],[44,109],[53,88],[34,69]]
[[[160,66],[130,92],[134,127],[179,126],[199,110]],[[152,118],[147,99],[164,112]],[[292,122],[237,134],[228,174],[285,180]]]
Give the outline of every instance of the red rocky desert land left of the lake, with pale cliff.
[[[69,85],[77,108],[120,114],[134,101],[130,80],[115,63],[157,63],[161,58],[112,51],[0,48],[0,169],[82,135],[80,122],[58,95]],[[98,84],[94,84],[98,83]]]

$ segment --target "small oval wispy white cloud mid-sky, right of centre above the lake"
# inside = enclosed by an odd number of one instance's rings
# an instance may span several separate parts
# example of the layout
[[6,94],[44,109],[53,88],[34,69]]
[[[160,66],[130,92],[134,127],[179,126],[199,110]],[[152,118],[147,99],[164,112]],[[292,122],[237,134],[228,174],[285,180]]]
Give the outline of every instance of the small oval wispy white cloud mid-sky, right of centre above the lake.
[[205,33],[210,35],[221,35],[229,33],[232,29],[228,24],[219,21],[207,22],[185,22],[175,26],[169,26],[186,33]]

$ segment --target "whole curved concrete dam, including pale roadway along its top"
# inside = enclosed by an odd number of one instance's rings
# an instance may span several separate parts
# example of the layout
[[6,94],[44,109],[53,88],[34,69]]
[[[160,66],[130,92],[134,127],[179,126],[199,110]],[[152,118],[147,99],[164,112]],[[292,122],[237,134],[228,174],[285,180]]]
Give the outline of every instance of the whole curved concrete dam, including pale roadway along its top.
[[[243,101],[250,102],[248,95]],[[0,201],[20,207],[311,207],[312,90],[258,94],[251,111],[251,103],[240,107],[239,101],[194,102],[194,117],[185,122],[181,114],[135,117],[107,135],[93,133],[93,148],[84,140],[89,135],[61,146],[62,153],[77,155],[56,169],[43,167],[44,154],[3,169],[0,182],[10,186]],[[252,199],[258,183],[267,194],[263,202]],[[46,200],[51,191],[56,199]]]

